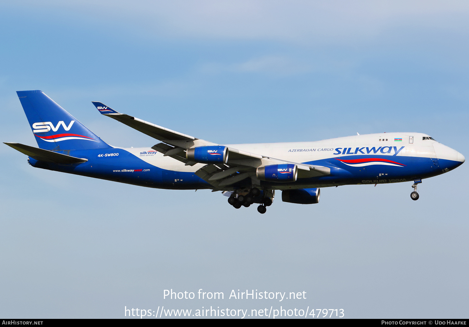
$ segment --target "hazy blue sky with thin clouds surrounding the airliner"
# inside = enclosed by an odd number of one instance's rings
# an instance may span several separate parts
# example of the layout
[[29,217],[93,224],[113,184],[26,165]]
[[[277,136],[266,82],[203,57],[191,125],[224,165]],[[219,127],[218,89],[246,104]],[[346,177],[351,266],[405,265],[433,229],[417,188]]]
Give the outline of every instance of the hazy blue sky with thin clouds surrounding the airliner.
[[[35,145],[15,91],[39,89],[116,146],[156,142],[91,101],[220,144],[416,131],[468,156],[468,15],[464,1],[0,2],[1,139]],[[279,192],[261,216],[208,190],[0,154],[1,316],[120,318],[170,305],[166,288],[304,289],[295,305],[350,318],[466,316],[466,165],[416,202],[410,183],[343,186],[318,205]]]

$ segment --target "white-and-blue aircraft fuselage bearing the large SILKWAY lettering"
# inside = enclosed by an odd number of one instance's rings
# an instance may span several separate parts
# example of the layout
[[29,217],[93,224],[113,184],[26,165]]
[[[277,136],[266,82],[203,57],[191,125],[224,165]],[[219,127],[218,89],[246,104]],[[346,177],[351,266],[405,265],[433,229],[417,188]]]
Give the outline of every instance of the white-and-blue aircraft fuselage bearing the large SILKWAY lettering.
[[[331,168],[331,174],[298,178],[296,182],[258,181],[263,188],[287,190],[347,184],[382,184],[414,181],[446,173],[464,162],[461,153],[422,133],[382,133],[339,137],[315,142],[227,144],[264,156]],[[151,148],[107,148],[64,151],[86,158],[79,164],[38,162],[34,167],[162,189],[212,189],[195,175],[205,164],[185,166]],[[248,179],[249,180],[249,179]],[[248,185],[249,183],[249,185]],[[246,184],[246,185],[244,185]],[[224,188],[250,187],[241,181]]]

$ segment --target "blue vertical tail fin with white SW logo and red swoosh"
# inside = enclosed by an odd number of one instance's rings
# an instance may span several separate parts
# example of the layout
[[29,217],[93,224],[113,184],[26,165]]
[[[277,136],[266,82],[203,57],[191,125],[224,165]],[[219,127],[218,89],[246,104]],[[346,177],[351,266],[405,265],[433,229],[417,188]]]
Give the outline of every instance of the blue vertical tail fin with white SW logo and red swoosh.
[[42,91],[16,91],[38,146],[45,150],[110,148]]

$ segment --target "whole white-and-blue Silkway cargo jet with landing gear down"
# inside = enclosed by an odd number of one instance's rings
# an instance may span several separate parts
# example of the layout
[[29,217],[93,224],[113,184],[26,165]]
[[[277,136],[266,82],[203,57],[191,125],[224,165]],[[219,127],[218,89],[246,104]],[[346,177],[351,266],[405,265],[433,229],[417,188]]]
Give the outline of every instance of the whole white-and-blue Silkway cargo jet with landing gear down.
[[222,191],[234,208],[282,201],[319,202],[320,187],[413,182],[444,174],[464,156],[422,133],[382,133],[314,142],[216,144],[121,114],[98,111],[159,141],[152,147],[107,144],[42,91],[18,91],[39,148],[5,143],[33,167],[152,188]]

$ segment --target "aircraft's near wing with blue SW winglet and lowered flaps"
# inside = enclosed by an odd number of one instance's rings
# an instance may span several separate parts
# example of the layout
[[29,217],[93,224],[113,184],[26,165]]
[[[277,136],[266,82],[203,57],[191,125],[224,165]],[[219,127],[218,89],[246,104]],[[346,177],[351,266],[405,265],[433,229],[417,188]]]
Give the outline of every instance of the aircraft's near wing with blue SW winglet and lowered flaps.
[[[193,166],[197,163],[186,159],[186,149],[197,146],[219,145],[166,129],[151,122],[145,122],[128,114],[118,113],[102,102],[92,101],[92,103],[101,114],[161,141],[161,143],[155,144],[152,149],[162,152],[165,156],[182,161],[185,165]],[[257,167],[287,163],[297,165],[299,169],[298,178],[330,174],[329,167],[305,165],[228,147],[228,161],[226,164],[205,165],[196,172],[196,175],[212,184],[214,188],[220,188],[256,175]]]

